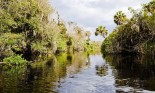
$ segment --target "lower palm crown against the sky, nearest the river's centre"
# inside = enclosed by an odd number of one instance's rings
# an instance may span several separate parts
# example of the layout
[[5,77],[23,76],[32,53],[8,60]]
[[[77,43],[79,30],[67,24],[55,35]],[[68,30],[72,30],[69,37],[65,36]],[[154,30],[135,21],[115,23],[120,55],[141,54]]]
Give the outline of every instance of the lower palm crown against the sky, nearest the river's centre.
[[98,28],[96,28],[95,35],[97,36],[99,34],[105,38],[108,34],[108,30],[106,29],[106,27],[99,26]]

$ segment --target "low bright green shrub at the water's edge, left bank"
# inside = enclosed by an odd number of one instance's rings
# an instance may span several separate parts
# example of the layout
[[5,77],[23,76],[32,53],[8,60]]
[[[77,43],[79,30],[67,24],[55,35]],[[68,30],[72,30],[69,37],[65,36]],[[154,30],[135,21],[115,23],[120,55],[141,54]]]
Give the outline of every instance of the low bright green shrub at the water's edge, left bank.
[[3,62],[10,65],[23,65],[27,63],[27,61],[23,59],[21,55],[13,55],[8,58],[4,58]]

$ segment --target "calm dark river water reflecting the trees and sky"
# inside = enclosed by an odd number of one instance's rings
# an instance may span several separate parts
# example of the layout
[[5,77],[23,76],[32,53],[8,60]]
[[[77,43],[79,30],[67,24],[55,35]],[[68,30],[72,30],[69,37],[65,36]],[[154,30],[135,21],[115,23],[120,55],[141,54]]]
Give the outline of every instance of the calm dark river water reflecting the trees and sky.
[[0,93],[155,93],[151,56],[61,54],[0,68]]

